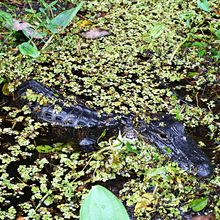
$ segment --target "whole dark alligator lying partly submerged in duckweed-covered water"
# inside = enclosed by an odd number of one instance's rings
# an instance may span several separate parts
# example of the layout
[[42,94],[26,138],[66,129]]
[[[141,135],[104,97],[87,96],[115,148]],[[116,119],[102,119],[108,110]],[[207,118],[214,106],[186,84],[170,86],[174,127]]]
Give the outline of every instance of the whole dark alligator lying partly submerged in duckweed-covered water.
[[[28,97],[29,90],[52,101],[41,105],[39,100]],[[141,136],[162,153],[168,154],[188,173],[196,173],[198,177],[209,177],[213,173],[210,160],[185,131],[183,124],[169,115],[160,116],[149,123],[143,119],[134,122],[133,114],[99,114],[82,100],[76,99],[76,104],[67,107],[59,93],[33,79],[18,87],[14,95],[15,103],[28,105],[34,118],[48,122],[49,134],[54,138],[61,141],[71,139],[84,151],[96,150],[100,137],[104,136],[107,140],[121,131],[127,136]],[[57,106],[61,108],[56,110]]]

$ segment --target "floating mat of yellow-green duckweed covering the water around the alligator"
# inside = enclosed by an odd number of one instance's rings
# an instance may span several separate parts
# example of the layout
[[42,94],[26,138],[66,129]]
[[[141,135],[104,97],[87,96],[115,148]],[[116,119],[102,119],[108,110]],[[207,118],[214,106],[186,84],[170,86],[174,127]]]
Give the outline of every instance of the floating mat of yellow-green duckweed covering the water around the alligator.
[[[123,201],[131,219],[219,219],[219,1],[84,1],[65,29],[48,21],[80,2],[47,3],[0,3],[41,35],[11,30],[0,13],[0,219],[78,219],[97,184]],[[20,49],[27,42],[35,57]],[[213,176],[189,175],[149,144],[120,134],[92,153],[48,137],[39,144],[47,125],[8,101],[28,79],[100,113],[173,115],[210,156]]]

